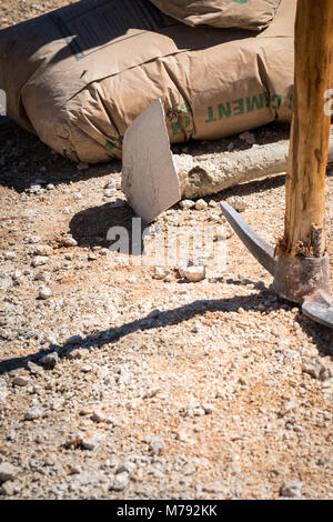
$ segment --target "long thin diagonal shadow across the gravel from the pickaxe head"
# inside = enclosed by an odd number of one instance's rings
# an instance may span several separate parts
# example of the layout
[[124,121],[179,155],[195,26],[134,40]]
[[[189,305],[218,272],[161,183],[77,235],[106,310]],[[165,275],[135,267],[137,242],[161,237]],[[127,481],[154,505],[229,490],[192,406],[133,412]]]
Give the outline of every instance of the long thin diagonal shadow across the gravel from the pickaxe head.
[[[229,280],[229,283],[234,284],[234,281]],[[260,291],[254,295],[194,301],[191,304],[185,304],[184,307],[179,307],[174,310],[157,312],[154,317],[151,317],[150,314],[135,321],[125,323],[122,327],[110,328],[94,334],[87,335],[81,340],[75,340],[74,344],[52,344],[48,350],[40,350],[39,352],[31,353],[30,355],[23,358],[2,361],[0,362],[0,375],[11,370],[26,368],[28,361],[38,362],[41,358],[51,352],[58,352],[60,358],[64,358],[71,351],[78,348],[102,348],[105,344],[118,342],[120,339],[129,335],[130,333],[138,331],[143,332],[147,330],[179,324],[196,315],[202,315],[205,312],[235,312],[239,308],[243,308],[244,310],[258,310],[258,307],[262,304],[265,299],[272,299],[272,295],[274,295],[275,300],[272,301],[272,305],[268,307],[266,310],[262,312],[263,314],[268,315],[270,312],[279,311],[281,308],[290,310],[293,307],[286,301],[278,298],[273,290],[265,288],[263,283],[258,283],[256,288],[260,289]],[[333,340],[331,329],[313,323],[309,319],[304,318],[301,312],[296,315],[295,322],[300,324],[302,330],[316,344],[321,355],[331,355],[333,358]]]

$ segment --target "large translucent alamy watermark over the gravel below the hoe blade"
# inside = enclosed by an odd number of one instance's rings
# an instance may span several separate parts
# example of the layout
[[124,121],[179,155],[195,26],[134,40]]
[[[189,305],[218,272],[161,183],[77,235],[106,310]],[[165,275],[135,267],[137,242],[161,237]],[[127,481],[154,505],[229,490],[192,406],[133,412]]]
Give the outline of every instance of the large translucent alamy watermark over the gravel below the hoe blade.
[[210,277],[221,278],[226,265],[225,230],[216,223],[195,227],[172,227],[167,231],[144,227],[133,218],[131,230],[125,227],[109,229],[109,250],[118,252],[117,263],[134,267],[176,268],[180,264],[204,265]]

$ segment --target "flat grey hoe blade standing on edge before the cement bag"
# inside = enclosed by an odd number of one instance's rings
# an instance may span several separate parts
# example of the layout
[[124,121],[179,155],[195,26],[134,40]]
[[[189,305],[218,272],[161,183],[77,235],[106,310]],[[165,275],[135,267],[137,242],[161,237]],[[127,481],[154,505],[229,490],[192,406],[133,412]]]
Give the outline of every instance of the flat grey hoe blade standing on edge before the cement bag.
[[122,191],[147,223],[180,201],[180,183],[160,99],[128,128],[122,158]]

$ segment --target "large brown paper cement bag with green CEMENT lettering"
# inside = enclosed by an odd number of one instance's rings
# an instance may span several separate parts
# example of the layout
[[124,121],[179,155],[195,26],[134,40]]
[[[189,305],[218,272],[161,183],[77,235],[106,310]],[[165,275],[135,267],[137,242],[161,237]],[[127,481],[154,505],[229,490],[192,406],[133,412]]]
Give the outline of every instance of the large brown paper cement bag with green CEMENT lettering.
[[295,0],[260,34],[191,28],[149,0],[81,0],[0,31],[8,112],[57,152],[121,158],[128,126],[161,98],[172,142],[291,117]]

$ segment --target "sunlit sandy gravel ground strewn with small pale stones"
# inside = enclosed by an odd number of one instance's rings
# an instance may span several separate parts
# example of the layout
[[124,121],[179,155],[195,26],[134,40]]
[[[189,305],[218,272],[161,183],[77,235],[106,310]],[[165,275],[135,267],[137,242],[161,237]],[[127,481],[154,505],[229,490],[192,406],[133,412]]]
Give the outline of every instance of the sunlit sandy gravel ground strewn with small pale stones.
[[[69,3],[34,2],[2,0],[1,27]],[[287,132],[253,133],[261,144]],[[173,152],[200,160],[231,142],[249,147],[232,137]],[[275,295],[216,204],[236,198],[275,242],[284,175],[153,223],[147,245],[184,228],[220,238],[221,265],[193,283],[176,263],[157,271],[140,252],[125,264],[108,250],[112,227],[135,241],[120,170],[78,170],[16,123],[0,126],[2,498],[333,499],[332,331]],[[329,169],[331,260],[332,201]]]

